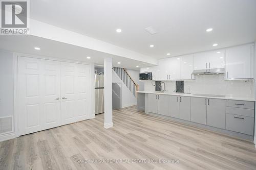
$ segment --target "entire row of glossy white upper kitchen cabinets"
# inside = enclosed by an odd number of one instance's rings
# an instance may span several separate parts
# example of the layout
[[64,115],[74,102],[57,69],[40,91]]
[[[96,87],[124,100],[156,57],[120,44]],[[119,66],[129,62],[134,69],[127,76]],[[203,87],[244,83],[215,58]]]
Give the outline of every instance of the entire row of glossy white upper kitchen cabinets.
[[153,80],[187,80],[193,79],[193,70],[225,68],[225,79],[251,79],[253,50],[254,44],[246,44],[194,55],[170,57],[160,59],[157,66],[141,68],[140,72],[152,72]]

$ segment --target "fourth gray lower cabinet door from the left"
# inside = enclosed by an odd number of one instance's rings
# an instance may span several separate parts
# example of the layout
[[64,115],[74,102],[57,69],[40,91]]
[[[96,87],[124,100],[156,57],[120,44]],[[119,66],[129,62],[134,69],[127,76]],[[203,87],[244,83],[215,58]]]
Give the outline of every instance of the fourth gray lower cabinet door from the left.
[[190,121],[191,98],[180,96],[179,118]]

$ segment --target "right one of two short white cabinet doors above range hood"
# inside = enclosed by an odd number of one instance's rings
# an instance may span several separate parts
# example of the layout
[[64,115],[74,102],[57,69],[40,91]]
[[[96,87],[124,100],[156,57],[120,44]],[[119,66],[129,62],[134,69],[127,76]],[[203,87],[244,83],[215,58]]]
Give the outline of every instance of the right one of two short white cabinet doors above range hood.
[[225,68],[225,50],[209,52],[207,66],[208,66],[208,69]]

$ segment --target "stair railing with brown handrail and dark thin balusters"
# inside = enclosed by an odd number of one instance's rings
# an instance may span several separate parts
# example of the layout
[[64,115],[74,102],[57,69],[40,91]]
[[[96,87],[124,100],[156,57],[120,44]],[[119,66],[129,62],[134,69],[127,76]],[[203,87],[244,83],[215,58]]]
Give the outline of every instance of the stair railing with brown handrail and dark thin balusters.
[[132,94],[137,97],[137,91],[139,89],[139,85],[136,84],[131,76],[128,74],[125,68],[113,67],[113,70],[116,72],[117,76],[122,80],[122,82],[126,85],[127,88],[132,92]]

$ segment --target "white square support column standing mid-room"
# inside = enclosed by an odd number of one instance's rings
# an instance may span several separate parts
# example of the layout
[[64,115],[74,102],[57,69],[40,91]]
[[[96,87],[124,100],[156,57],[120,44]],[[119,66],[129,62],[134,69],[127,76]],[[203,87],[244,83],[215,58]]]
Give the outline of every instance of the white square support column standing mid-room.
[[104,128],[113,127],[112,122],[112,58],[104,59]]

